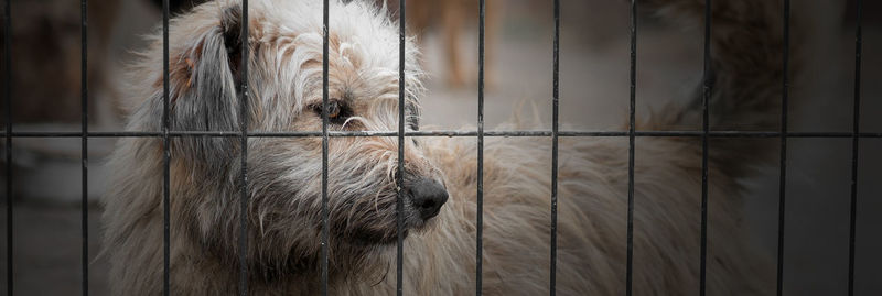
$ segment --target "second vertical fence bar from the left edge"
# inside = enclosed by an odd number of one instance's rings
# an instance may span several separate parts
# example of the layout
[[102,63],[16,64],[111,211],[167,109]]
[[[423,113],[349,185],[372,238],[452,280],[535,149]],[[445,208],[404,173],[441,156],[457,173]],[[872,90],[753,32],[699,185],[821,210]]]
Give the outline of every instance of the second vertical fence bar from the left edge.
[[89,204],[88,204],[88,193],[89,193],[89,189],[88,189],[88,175],[89,175],[89,171],[88,171],[88,165],[89,165],[89,158],[88,158],[88,142],[89,142],[89,138],[88,138],[88,118],[89,118],[88,107],[89,107],[89,100],[88,100],[88,95],[89,95],[89,89],[88,89],[88,34],[87,34],[88,33],[88,0],[82,0],[79,7],[80,7],[79,8],[80,9],[80,25],[79,25],[80,32],[79,32],[79,35],[80,35],[80,46],[82,46],[80,47],[80,54],[82,54],[82,57],[83,57],[83,61],[80,62],[80,73],[79,73],[79,78],[80,78],[79,89],[82,91],[82,94],[80,94],[82,95],[80,107],[83,108],[83,110],[80,111],[80,119],[82,119],[80,123],[82,123],[82,130],[83,130],[83,138],[82,138],[83,146],[80,147],[80,153],[82,153],[80,162],[83,164],[82,165],[82,169],[83,169],[82,171],[82,177],[83,177],[82,189],[83,189],[83,193],[82,193],[82,196],[80,196],[80,199],[82,199],[82,201],[80,201],[82,202],[82,205],[80,205],[80,213],[82,213],[82,219],[83,219],[80,221],[80,227],[82,227],[82,230],[83,230],[83,242],[82,242],[83,243],[82,244],[83,254],[82,254],[82,257],[80,257],[80,264],[82,264],[82,271],[80,272],[83,273],[83,275],[82,275],[83,278],[80,279],[80,284],[83,285],[83,295],[85,296],[85,295],[89,294],[89,264],[88,264],[88,259],[89,259],[89,228],[88,228],[88,226],[89,226],[89,222],[88,222],[89,221],[88,220],[88,218],[89,218]]

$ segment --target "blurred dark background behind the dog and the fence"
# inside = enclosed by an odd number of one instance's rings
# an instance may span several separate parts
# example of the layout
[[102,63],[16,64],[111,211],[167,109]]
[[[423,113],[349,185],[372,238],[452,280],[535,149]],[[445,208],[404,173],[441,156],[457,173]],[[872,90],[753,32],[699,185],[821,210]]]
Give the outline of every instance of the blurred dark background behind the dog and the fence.
[[[180,13],[198,0],[170,2],[173,13]],[[476,2],[408,0],[413,9],[407,14],[409,32],[419,35],[423,67],[430,74],[422,99],[426,129],[469,129],[476,124]],[[626,1],[560,2],[563,129],[626,130]],[[811,20],[813,28],[810,42],[803,45],[809,53],[804,79],[793,83],[792,131],[851,131],[853,2],[794,1],[794,18]],[[132,52],[144,45],[142,36],[160,24],[160,3],[89,1],[90,131],[121,130],[119,100],[125,92],[119,77],[126,72],[126,64],[133,61]],[[488,129],[513,121],[529,129],[550,129],[551,3],[487,1]],[[396,0],[389,6],[397,7]],[[79,131],[79,1],[12,0],[11,15],[11,36],[3,36],[3,42],[11,42],[12,84],[3,87],[11,87],[14,130]],[[863,17],[861,130],[882,132],[882,3],[864,1]],[[665,103],[687,97],[700,83],[702,32],[668,25],[648,13],[641,13],[638,23],[636,112],[638,118],[646,118]],[[6,81],[4,78],[0,80]],[[0,107],[0,114],[4,108]],[[699,128],[698,122],[691,127]],[[96,295],[107,294],[98,199],[107,186],[105,158],[114,142],[92,138],[88,147],[89,290]],[[860,151],[856,295],[882,295],[882,272],[878,267],[882,266],[882,254],[878,252],[882,250],[882,139],[862,139]],[[66,295],[79,289],[79,155],[78,138],[13,140],[13,278],[18,295]],[[847,292],[850,160],[850,139],[789,140],[784,279],[787,295]],[[751,189],[744,220],[755,239],[753,243],[770,257],[774,257],[777,242],[777,165],[770,164],[754,178],[743,180]],[[0,191],[6,194],[6,189]],[[641,209],[638,205],[636,210],[652,209]],[[6,217],[0,221],[6,223]],[[0,253],[6,253],[6,242],[0,244]],[[6,256],[1,260],[0,265],[6,266]],[[6,285],[6,268],[0,268],[0,278]]]

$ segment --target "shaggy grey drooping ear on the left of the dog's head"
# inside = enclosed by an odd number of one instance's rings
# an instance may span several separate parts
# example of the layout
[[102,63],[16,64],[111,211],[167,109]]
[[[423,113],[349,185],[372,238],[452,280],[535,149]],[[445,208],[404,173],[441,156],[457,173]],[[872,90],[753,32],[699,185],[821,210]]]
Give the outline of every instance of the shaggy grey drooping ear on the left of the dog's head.
[[[241,7],[220,12],[216,26],[190,42],[171,79],[171,128],[176,131],[238,131],[241,79]],[[173,149],[203,164],[224,163],[236,155],[232,138],[191,138],[174,141]]]

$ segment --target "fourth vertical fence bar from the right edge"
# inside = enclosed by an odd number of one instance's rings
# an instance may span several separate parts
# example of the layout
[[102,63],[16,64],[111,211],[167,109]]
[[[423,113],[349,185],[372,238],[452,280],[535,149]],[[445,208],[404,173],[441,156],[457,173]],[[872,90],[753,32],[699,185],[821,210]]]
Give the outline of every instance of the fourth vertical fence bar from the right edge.
[[627,265],[625,266],[625,295],[633,294],[634,278],[634,130],[637,101],[637,0],[631,0],[631,98],[627,125]]

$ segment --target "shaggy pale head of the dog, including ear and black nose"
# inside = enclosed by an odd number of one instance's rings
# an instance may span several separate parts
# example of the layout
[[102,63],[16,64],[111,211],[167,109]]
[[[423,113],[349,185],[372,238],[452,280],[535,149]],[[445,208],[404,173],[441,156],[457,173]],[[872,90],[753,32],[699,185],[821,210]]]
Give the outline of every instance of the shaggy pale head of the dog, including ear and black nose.
[[[241,42],[238,1],[216,1],[175,18],[170,30],[170,123],[173,131],[238,131],[241,79],[248,80],[248,127],[254,132],[322,130],[323,25],[321,1],[249,1],[248,42]],[[330,6],[327,116],[330,131],[397,131],[399,36],[385,12],[359,1]],[[405,52],[406,130],[419,128],[421,90],[417,50]],[[162,122],[162,43],[137,66],[131,130]],[[243,64],[247,48],[246,65]],[[331,261],[364,263],[398,237],[397,197],[405,231],[427,228],[448,199],[441,173],[406,139],[398,169],[396,136],[332,136],[327,146],[327,226]],[[173,209],[192,221],[192,235],[222,255],[238,250],[240,139],[172,140]],[[321,253],[322,138],[248,140],[248,255],[273,270],[314,267]],[[176,176],[175,176],[176,174]],[[398,184],[398,174],[404,183]],[[186,182],[184,182],[186,180]]]

